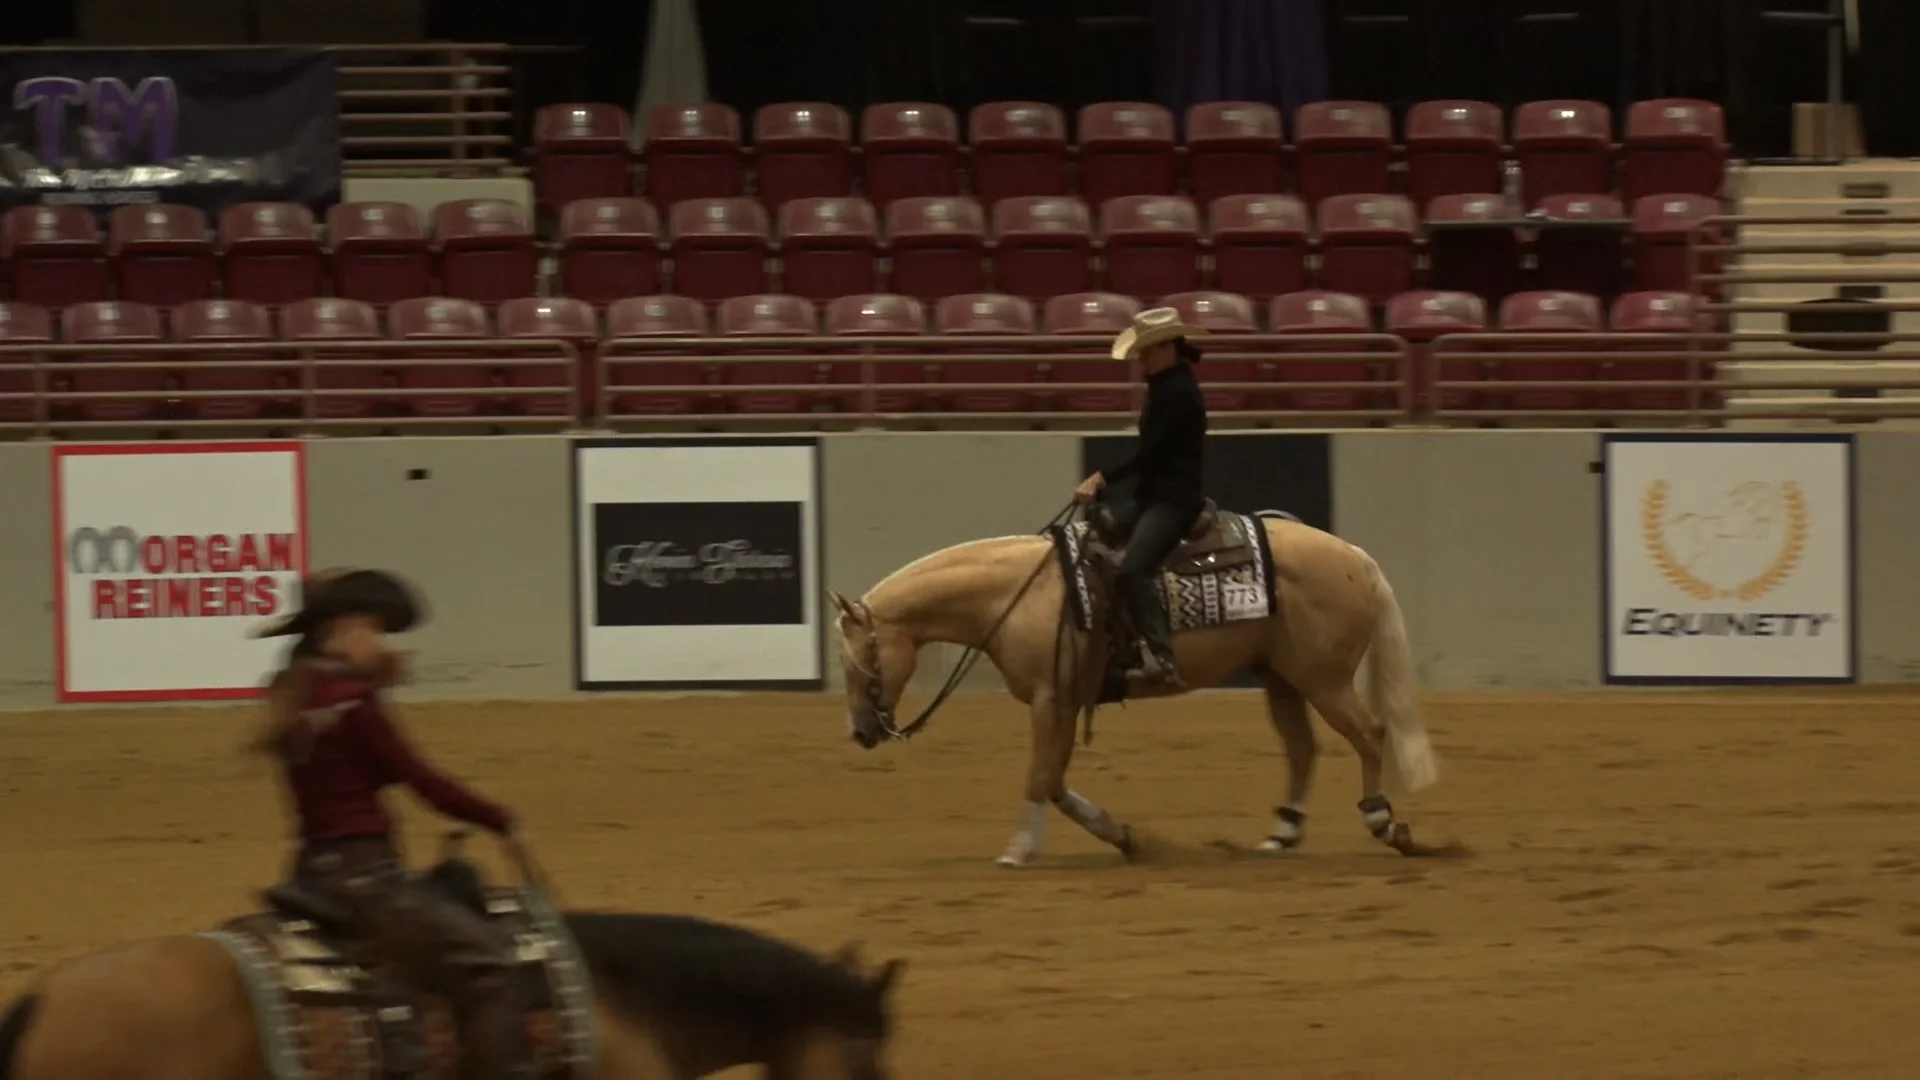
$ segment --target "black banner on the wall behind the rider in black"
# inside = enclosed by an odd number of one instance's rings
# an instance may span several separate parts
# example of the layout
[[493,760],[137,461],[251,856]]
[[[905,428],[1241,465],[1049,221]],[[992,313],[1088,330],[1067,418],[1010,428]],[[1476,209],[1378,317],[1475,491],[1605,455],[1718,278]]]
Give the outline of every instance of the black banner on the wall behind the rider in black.
[[[1131,434],[1081,440],[1083,473],[1112,469],[1139,446]],[[1206,442],[1206,494],[1221,509],[1283,509],[1315,528],[1332,530],[1332,436],[1327,432],[1219,432]],[[1131,484],[1121,484],[1121,494]],[[1062,500],[1066,502],[1066,500]],[[1221,686],[1258,686],[1244,675]]]

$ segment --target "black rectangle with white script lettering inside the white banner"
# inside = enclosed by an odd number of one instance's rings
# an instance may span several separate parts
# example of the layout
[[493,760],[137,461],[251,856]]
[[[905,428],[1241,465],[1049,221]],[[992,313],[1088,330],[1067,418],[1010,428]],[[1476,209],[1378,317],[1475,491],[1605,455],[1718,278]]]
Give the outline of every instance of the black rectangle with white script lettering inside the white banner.
[[593,507],[595,626],[797,626],[803,503],[641,502]]

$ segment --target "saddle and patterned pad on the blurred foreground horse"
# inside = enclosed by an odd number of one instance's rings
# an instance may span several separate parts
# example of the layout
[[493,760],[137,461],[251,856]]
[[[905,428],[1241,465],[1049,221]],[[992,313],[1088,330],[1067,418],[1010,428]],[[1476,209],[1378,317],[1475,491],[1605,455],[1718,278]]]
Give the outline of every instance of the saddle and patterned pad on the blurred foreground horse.
[[[586,1078],[593,1057],[589,974],[538,886],[501,888],[449,853],[419,874],[444,899],[480,913],[511,942],[528,1047],[543,1078]],[[294,882],[263,892],[269,911],[207,934],[246,974],[271,1074],[307,1080],[459,1074],[447,1003],[407,986],[351,932],[338,905]]]

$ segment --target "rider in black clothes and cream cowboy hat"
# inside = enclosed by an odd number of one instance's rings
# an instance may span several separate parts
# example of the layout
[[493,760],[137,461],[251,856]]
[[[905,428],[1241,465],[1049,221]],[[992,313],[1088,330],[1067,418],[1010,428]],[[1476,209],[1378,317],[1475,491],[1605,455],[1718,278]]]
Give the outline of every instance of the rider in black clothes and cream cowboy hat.
[[1154,592],[1154,573],[1206,505],[1206,396],[1192,369],[1200,348],[1188,340],[1204,334],[1204,329],[1181,323],[1173,307],[1154,307],[1140,311],[1133,327],[1114,338],[1114,359],[1139,359],[1146,375],[1140,442],[1133,457],[1087,477],[1073,492],[1077,502],[1092,502],[1108,482],[1135,479],[1133,500],[1112,517],[1117,534],[1131,532],[1114,588],[1142,638],[1140,667],[1127,673],[1129,682],[1181,686],[1173,667],[1173,632]]

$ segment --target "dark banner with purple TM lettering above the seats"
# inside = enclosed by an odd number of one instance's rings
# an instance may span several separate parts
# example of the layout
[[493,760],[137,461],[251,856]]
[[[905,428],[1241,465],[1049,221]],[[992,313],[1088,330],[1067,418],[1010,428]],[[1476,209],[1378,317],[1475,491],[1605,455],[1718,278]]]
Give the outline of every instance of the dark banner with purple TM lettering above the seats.
[[0,209],[340,202],[334,54],[0,50]]

